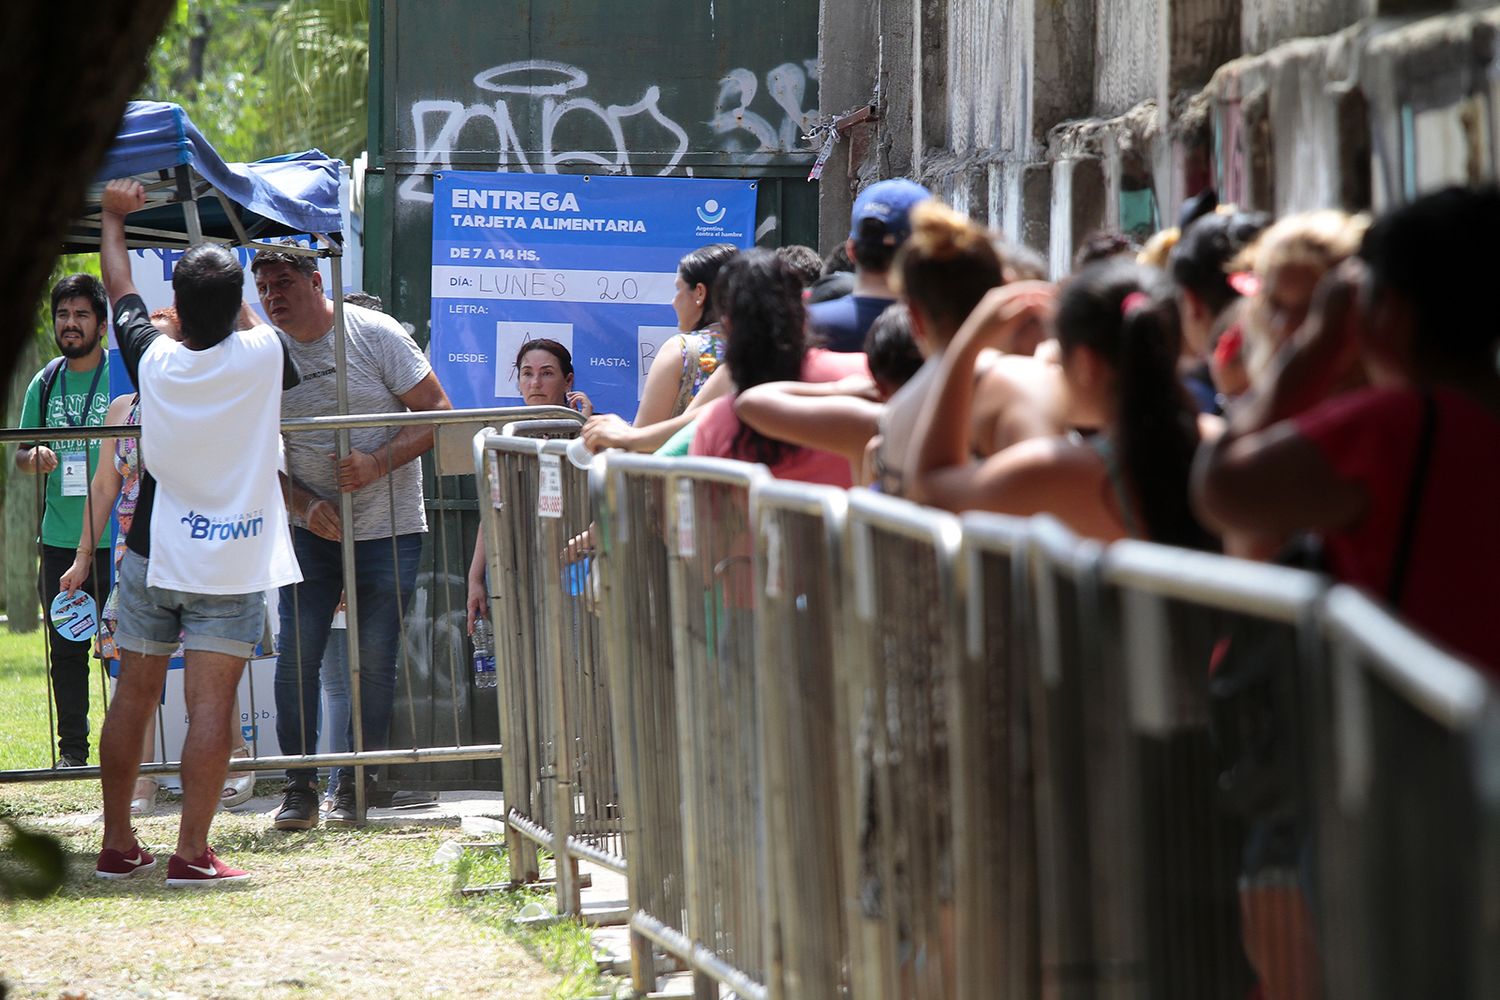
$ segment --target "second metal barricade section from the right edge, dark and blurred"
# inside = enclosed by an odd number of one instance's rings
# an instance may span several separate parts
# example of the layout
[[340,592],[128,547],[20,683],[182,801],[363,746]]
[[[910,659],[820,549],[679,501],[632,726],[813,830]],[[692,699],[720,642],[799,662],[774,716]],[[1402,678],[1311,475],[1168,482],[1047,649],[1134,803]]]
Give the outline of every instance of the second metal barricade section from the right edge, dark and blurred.
[[[1108,996],[1314,997],[1296,886],[1311,834],[1300,729],[1326,582],[1122,541],[1080,661],[1092,966]],[[1092,621],[1090,621],[1092,619]],[[1046,831],[1044,831],[1046,835]]]

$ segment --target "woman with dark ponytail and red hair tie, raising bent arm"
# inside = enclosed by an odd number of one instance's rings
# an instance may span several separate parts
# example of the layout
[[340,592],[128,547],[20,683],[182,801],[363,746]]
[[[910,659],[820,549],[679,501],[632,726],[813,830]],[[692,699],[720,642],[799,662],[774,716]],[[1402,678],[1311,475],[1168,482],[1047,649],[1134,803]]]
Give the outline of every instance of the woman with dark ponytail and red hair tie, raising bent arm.
[[1170,283],[1137,264],[1088,267],[1056,301],[1066,418],[1098,430],[969,460],[974,363],[984,346],[1050,312],[1052,294],[1036,283],[990,292],[954,337],[916,421],[914,498],[956,511],[1050,513],[1101,541],[1214,547],[1188,508],[1198,426],[1176,376],[1176,303]]

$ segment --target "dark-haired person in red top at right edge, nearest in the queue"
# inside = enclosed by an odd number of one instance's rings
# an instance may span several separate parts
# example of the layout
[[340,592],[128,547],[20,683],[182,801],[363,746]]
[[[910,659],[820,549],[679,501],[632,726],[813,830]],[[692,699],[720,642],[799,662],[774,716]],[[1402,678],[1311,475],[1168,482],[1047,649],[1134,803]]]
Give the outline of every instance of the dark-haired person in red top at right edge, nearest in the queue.
[[[1378,220],[1360,259],[1324,280],[1266,391],[1203,450],[1196,483],[1208,522],[1269,538],[1318,532],[1336,579],[1492,675],[1497,228],[1494,187],[1443,190]],[[1356,364],[1370,388],[1328,399]]]

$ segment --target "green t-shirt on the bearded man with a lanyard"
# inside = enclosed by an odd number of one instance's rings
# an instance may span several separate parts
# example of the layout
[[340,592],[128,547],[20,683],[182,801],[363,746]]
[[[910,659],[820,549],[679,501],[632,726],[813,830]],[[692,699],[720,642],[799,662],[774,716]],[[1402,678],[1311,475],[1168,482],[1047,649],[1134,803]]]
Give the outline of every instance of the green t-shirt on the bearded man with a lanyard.
[[[100,360],[99,384],[90,396],[94,370],[69,372],[64,363],[52,378],[52,394],[46,400],[46,420],[42,420],[42,372],[26,387],[26,402],[21,405],[22,427],[99,427],[110,412],[110,360]],[[45,367],[44,367],[45,370]],[[88,406],[87,417],[84,406]],[[87,496],[63,496],[62,463],[69,454],[87,454],[86,486],[93,483],[93,471],[99,465],[98,441],[45,441],[57,453],[58,468],[46,477],[46,507],[42,513],[42,544],[58,549],[76,549],[84,528],[84,505]],[[114,498],[94,498],[94,502],[114,504]],[[110,544],[108,534],[99,540],[99,547]]]

